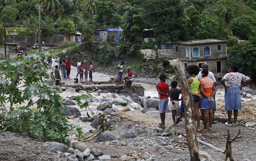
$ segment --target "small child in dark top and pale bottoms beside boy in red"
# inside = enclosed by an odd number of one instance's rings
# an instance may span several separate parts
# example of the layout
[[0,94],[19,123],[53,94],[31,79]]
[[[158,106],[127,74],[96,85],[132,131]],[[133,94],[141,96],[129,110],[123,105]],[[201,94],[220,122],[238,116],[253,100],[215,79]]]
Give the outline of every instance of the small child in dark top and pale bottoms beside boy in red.
[[[178,117],[178,110],[179,110],[179,94],[181,94],[181,90],[177,88],[178,86],[178,82],[177,81],[172,81],[171,83],[171,90],[170,93],[172,94],[172,99],[174,101],[174,105],[173,104],[169,104],[170,109],[172,110],[172,120],[173,120],[173,124],[172,126],[175,126],[175,124],[179,123],[179,117]],[[176,120],[177,118],[177,120]]]

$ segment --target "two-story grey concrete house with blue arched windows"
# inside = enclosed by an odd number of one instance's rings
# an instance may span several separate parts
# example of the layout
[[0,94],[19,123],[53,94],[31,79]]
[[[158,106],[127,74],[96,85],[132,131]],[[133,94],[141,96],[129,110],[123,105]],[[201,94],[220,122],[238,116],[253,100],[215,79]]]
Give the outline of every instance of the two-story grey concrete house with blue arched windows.
[[226,73],[227,65],[227,41],[223,40],[199,40],[173,43],[174,58],[180,59],[183,67],[187,64],[209,65],[209,71],[214,74]]

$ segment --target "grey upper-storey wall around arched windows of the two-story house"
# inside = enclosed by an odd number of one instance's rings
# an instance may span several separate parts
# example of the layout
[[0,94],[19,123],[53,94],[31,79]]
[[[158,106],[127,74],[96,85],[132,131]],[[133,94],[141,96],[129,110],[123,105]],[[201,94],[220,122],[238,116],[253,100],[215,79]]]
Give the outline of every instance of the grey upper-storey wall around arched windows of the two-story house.
[[[221,45],[222,49],[221,51],[217,51],[217,45]],[[175,46],[178,46],[179,52],[176,52]],[[204,56],[204,48],[206,46],[210,47],[211,55]],[[182,50],[183,47],[183,50]],[[186,47],[188,48],[189,55],[186,57]],[[193,57],[193,48],[198,47],[199,48],[199,56]],[[217,58],[223,58],[227,56],[227,43],[210,43],[210,44],[173,44],[174,49],[174,57],[175,58],[181,58],[181,59],[190,59],[190,60],[196,60],[196,59],[217,59]]]

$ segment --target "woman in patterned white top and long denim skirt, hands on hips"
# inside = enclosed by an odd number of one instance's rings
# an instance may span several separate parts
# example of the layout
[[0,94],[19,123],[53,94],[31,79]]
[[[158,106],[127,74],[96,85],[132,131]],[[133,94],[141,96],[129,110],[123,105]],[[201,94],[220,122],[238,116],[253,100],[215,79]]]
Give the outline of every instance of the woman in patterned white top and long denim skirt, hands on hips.
[[[241,84],[241,81],[244,84]],[[228,122],[227,126],[232,126],[231,117],[232,111],[234,112],[233,126],[237,126],[238,111],[241,111],[241,90],[247,84],[251,82],[251,79],[244,74],[238,72],[238,66],[231,65],[229,67],[229,73],[225,74],[221,79],[221,83],[225,87],[225,111],[227,111]]]

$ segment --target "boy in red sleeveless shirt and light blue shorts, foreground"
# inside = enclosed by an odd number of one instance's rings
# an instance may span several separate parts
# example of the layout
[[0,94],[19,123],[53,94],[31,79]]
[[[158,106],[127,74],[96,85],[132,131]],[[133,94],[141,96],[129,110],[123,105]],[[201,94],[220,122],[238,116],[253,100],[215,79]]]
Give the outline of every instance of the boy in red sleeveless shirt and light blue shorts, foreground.
[[158,125],[158,127],[165,129],[166,128],[165,113],[167,111],[168,102],[169,102],[168,96],[170,97],[170,101],[172,102],[173,105],[175,104],[175,102],[172,99],[172,94],[170,93],[169,85],[166,83],[166,75],[161,74],[159,78],[160,78],[160,82],[157,83],[156,88],[157,88],[158,98],[159,98],[158,106],[159,106],[161,123]]

